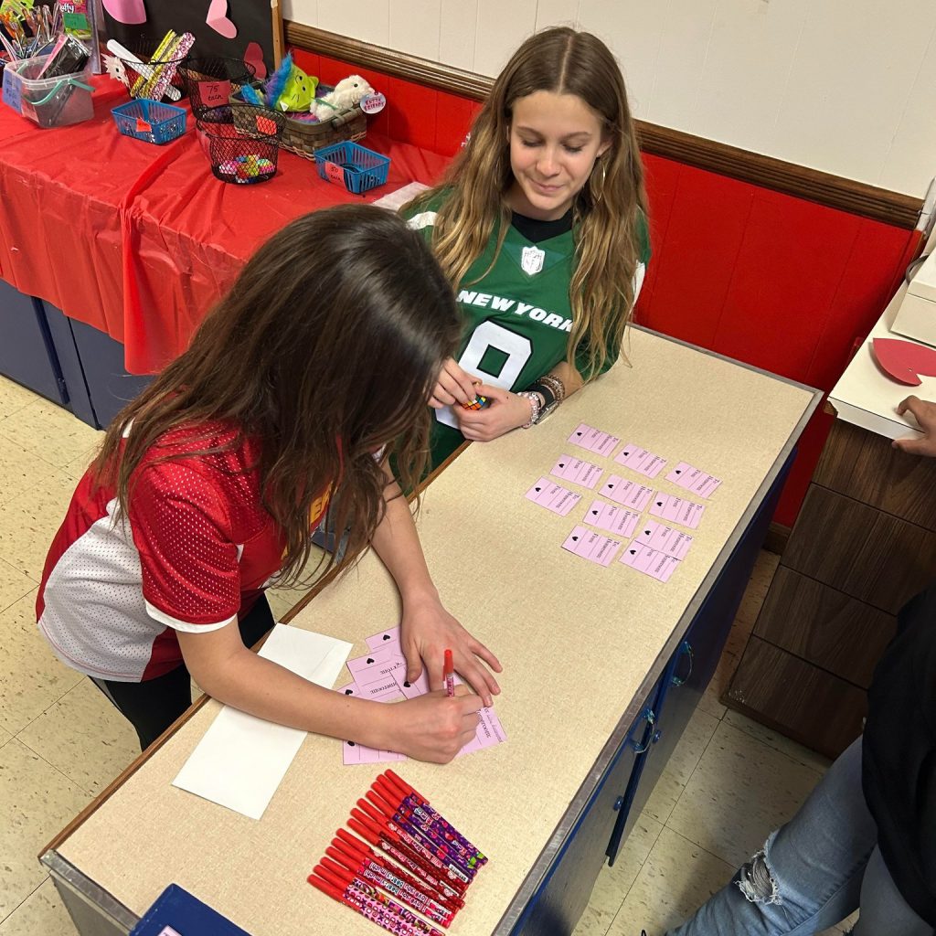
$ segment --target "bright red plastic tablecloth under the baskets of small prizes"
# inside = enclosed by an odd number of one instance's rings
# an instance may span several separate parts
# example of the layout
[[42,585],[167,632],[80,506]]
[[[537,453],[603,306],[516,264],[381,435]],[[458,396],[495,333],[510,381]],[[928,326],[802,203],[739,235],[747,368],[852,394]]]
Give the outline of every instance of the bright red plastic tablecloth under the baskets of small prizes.
[[124,88],[106,78],[95,85],[94,119],[74,126],[42,130],[0,106],[0,275],[123,342],[131,373],[154,373],[183,351],[272,232],[304,212],[432,183],[447,162],[370,136],[390,172],[363,198],[285,152],[271,182],[222,183],[191,114],[183,137],[165,146],[129,139],[110,117]]

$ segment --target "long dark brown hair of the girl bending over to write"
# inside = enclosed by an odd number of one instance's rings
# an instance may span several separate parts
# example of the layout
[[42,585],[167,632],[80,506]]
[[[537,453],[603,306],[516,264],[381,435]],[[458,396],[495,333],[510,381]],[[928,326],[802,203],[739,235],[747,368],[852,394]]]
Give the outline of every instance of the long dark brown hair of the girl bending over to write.
[[263,503],[285,538],[280,580],[309,559],[323,493],[335,528],[350,530],[347,567],[383,518],[373,451],[387,446],[404,490],[424,471],[426,402],[459,328],[444,274],[399,217],[364,205],[307,214],[260,247],[188,350],[115,417],[95,475],[126,516],[131,477],[161,437],[220,420],[237,431],[225,447],[258,443]]

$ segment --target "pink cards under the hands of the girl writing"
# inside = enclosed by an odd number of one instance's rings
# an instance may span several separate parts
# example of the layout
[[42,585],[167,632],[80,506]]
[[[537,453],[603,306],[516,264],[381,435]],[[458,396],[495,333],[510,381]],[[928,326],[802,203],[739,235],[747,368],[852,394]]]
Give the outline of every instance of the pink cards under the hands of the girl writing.
[[[371,652],[348,660],[347,666],[354,680],[336,689],[344,695],[358,695],[374,702],[397,702],[401,699],[416,698],[429,692],[429,680],[426,670],[415,682],[406,680],[406,660],[400,647],[400,628],[393,627],[367,638]],[[456,677],[456,682],[460,681]],[[475,739],[469,741],[459,752],[461,754],[490,748],[492,744],[501,744],[506,740],[504,727],[493,709],[481,709],[478,712],[478,726]],[[365,747],[355,741],[344,741],[342,758],[345,764],[377,764],[385,761],[406,760],[406,756],[395,751],[378,751]]]

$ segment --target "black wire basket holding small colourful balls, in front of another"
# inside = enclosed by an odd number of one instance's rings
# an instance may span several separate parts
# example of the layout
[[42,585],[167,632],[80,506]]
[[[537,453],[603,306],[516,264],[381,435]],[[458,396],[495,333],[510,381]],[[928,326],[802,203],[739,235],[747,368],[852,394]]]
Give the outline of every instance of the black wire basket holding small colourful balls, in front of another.
[[232,104],[203,110],[196,123],[215,178],[254,185],[276,174],[285,125],[281,111]]

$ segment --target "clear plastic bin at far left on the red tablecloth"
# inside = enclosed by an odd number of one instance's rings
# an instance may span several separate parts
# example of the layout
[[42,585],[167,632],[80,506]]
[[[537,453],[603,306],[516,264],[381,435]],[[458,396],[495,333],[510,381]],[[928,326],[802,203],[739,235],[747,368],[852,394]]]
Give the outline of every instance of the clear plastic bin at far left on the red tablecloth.
[[90,66],[75,75],[59,78],[36,78],[48,55],[37,55],[22,62],[7,63],[3,69],[3,99],[23,117],[41,127],[80,124],[94,116],[88,83]]

